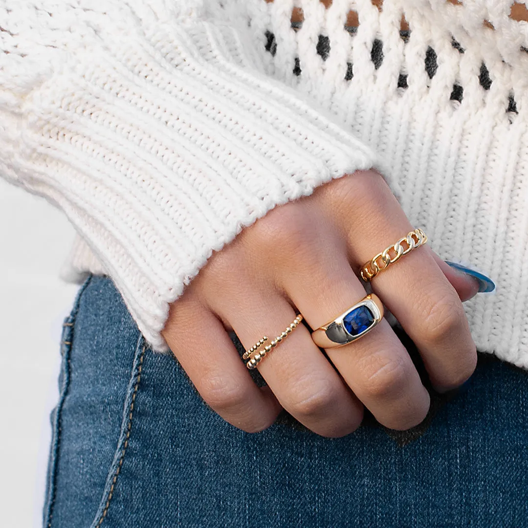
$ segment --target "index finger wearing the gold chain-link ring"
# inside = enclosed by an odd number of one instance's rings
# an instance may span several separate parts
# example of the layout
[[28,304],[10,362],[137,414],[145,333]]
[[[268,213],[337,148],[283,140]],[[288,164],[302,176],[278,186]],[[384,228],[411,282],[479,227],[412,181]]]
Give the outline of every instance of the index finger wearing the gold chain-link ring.
[[[364,175],[359,177],[359,199],[368,202],[369,214],[347,225],[350,259],[357,270],[414,229],[381,177],[370,175],[368,185],[361,183]],[[428,244],[379,272],[371,284],[418,347],[437,390],[455,388],[469,378],[477,355],[464,307]]]

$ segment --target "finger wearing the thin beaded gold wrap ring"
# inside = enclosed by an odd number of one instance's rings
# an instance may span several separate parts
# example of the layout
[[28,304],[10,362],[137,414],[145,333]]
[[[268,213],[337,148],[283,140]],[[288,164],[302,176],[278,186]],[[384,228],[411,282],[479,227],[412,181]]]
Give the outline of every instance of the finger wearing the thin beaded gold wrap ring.
[[[254,287],[218,309],[246,349],[263,335],[269,337],[268,342],[274,340],[296,317],[284,297]],[[308,429],[326,437],[341,437],[359,427],[363,405],[302,323],[272,348],[257,368],[282,407]]]

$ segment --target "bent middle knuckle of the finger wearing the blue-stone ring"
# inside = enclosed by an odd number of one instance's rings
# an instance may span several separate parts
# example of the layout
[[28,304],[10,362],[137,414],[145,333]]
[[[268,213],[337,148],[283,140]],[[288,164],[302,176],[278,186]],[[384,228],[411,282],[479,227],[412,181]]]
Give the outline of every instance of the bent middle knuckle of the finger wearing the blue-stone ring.
[[360,365],[364,375],[364,391],[370,398],[394,397],[409,381],[409,372],[401,356],[371,354]]

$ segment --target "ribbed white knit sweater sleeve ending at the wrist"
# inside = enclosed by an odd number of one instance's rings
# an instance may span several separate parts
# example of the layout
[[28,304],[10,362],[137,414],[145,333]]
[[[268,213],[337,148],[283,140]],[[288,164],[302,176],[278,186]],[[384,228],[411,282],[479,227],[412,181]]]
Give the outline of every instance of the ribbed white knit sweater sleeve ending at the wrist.
[[266,76],[242,25],[199,6],[0,0],[0,174],[67,214],[159,351],[169,304],[213,251],[379,166]]

